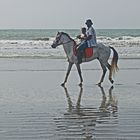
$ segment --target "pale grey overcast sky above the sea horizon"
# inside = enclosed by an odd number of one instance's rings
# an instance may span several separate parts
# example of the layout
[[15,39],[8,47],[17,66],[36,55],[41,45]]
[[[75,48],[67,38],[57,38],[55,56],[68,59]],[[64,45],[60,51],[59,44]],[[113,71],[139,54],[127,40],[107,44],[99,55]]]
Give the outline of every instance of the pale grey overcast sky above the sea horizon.
[[140,0],[0,0],[0,29],[139,28]]

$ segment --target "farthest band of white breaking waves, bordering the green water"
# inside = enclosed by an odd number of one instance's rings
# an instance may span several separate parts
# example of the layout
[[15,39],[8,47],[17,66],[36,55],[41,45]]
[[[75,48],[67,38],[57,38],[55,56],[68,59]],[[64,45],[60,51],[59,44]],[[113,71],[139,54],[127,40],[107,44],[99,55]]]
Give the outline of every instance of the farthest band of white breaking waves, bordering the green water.
[[[50,37],[50,38],[36,38],[33,40],[0,40],[0,47],[6,46],[6,45],[8,46],[13,45],[13,47],[16,47],[18,45],[21,47],[23,46],[32,46],[32,47],[50,46],[53,43],[54,39],[55,39],[54,37]],[[132,36],[120,36],[120,37],[115,37],[115,38],[106,37],[106,36],[98,36],[97,42],[105,43],[105,44],[107,43],[119,44],[120,46],[125,46],[125,45],[130,44],[130,45],[137,45],[138,47],[140,47],[140,37],[132,37]]]

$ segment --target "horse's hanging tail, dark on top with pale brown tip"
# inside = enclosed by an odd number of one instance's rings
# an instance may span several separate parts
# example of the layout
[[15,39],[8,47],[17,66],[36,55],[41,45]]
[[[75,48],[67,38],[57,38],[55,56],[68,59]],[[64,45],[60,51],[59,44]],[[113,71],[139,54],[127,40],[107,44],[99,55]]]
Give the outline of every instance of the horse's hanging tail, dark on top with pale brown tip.
[[111,61],[111,73],[115,74],[115,72],[117,72],[119,70],[119,68],[117,66],[118,53],[113,47],[110,47],[110,49],[113,50],[113,58],[112,58],[112,61]]

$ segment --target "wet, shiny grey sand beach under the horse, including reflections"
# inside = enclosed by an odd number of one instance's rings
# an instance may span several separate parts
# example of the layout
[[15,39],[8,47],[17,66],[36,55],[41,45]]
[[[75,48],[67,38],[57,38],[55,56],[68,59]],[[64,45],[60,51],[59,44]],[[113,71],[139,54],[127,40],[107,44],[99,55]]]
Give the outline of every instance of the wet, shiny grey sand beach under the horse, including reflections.
[[1,140],[139,140],[140,60],[120,59],[115,83],[98,87],[95,60],[73,68],[63,59],[0,59]]

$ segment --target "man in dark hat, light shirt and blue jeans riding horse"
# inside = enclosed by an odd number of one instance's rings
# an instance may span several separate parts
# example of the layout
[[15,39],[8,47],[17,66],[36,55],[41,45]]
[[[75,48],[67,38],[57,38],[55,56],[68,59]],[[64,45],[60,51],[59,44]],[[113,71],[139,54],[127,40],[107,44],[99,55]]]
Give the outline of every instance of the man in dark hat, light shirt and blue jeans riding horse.
[[77,58],[78,58],[78,63],[82,63],[82,56],[83,56],[83,52],[84,49],[87,47],[96,47],[97,43],[96,43],[96,32],[94,30],[94,28],[92,27],[93,23],[91,21],[91,19],[86,20],[87,25],[87,31],[86,31],[86,37],[84,39],[84,42],[80,43],[80,45],[78,46],[78,53],[77,53]]

